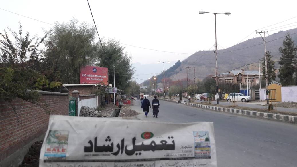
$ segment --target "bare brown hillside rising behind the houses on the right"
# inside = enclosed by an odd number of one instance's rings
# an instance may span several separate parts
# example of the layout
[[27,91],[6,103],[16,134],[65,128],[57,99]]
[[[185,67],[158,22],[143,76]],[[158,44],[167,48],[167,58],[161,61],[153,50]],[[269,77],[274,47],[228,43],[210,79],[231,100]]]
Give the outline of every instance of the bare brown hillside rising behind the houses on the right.
[[[279,58],[281,57],[281,54],[279,53],[279,47],[282,46],[282,42],[285,39],[284,37],[287,33],[292,34],[291,38],[295,41],[296,46],[297,28],[287,31],[279,31],[278,33],[266,36],[266,51],[271,52],[271,55],[273,55],[272,60],[279,60]],[[246,62],[248,64],[258,62],[259,59],[264,57],[263,43],[263,39],[261,37],[258,37],[238,43],[224,50],[218,50],[218,74],[237,69],[238,67],[246,64]],[[257,68],[257,63],[253,65],[254,66],[249,66],[249,70],[259,70],[259,68]],[[275,65],[276,67],[278,67],[278,63],[275,63]],[[203,79],[210,74],[215,75],[215,53],[213,50],[199,51],[182,61],[178,67],[176,66],[176,64],[174,66],[174,70],[172,68],[169,68],[165,71],[165,78],[173,78],[173,80],[187,78],[187,67],[195,67],[196,79]],[[194,70],[190,70],[188,74],[189,77],[191,76],[190,79],[193,80]],[[158,78],[162,79],[163,74]]]

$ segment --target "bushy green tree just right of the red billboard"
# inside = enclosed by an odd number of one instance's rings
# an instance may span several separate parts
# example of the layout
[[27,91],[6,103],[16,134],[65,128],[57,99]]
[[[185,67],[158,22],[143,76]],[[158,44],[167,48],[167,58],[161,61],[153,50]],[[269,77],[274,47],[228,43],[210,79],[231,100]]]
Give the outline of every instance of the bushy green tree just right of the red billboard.
[[110,84],[113,84],[113,66],[115,66],[116,87],[125,90],[132,79],[134,68],[132,68],[131,55],[124,52],[125,48],[121,47],[120,44],[114,39],[109,39],[107,42],[102,41],[103,50],[101,45],[97,43],[98,54],[94,61],[96,66],[108,68]]

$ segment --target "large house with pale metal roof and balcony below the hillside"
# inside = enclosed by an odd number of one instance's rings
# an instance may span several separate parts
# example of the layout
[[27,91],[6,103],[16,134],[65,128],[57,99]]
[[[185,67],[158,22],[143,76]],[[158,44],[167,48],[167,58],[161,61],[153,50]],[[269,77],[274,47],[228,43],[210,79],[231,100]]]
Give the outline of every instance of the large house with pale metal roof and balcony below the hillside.
[[[247,78],[248,75],[248,78]],[[260,74],[261,78],[263,74]],[[216,79],[216,76],[212,76],[212,78]],[[220,82],[227,83],[249,83],[250,86],[259,84],[259,71],[256,70],[231,70],[229,72],[218,74],[218,80]]]

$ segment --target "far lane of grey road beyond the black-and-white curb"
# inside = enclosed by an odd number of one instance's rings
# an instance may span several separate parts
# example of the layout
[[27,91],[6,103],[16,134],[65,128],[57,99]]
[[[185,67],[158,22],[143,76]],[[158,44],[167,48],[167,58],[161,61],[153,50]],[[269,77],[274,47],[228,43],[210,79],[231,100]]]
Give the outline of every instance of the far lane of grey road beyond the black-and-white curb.
[[[204,102],[204,101],[200,101],[200,100],[195,100],[195,101],[196,102]],[[211,103],[217,104],[217,101],[212,101]],[[264,101],[262,103],[264,104]],[[230,103],[228,103],[227,101],[219,101],[219,104],[224,105],[224,106],[230,106]],[[244,103],[244,102],[238,101],[238,102],[236,102],[236,105],[241,106],[241,107],[265,109],[264,105],[249,104],[249,102]],[[273,107],[273,108],[276,109],[277,111],[297,112],[297,109],[293,109],[293,108],[285,108],[285,107]]]

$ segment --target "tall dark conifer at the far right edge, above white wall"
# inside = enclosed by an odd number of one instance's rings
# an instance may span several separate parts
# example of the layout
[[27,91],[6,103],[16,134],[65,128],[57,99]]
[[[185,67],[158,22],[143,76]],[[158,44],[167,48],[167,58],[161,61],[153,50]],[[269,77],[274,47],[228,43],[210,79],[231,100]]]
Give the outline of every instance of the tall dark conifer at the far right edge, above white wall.
[[[282,42],[283,47],[279,47],[282,57],[279,61],[279,79],[282,85],[293,85],[293,74],[296,72],[296,50],[294,41],[290,34],[286,34],[285,40]],[[295,78],[297,80],[297,77]]]

